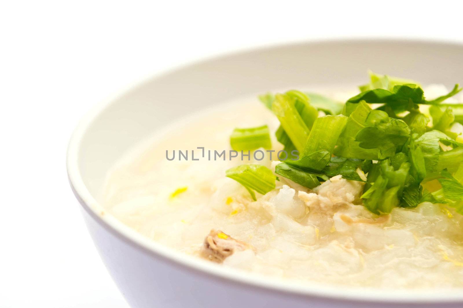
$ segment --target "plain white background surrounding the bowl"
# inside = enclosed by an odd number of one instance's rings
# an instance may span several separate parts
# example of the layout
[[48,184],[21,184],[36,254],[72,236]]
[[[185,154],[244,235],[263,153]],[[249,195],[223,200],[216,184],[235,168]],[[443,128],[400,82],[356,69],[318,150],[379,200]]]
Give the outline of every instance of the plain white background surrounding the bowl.
[[79,118],[121,87],[276,43],[463,42],[457,1],[324,2],[0,0],[0,307],[128,307],[88,236],[65,170]]

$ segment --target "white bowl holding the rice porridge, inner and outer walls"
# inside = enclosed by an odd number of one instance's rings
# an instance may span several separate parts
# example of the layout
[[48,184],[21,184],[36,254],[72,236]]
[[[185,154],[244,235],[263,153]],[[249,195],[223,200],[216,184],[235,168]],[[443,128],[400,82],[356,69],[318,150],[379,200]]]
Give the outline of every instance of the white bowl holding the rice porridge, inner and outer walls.
[[108,169],[171,121],[233,97],[300,84],[360,84],[367,69],[422,83],[463,81],[463,46],[308,42],[225,55],[164,73],[90,112],[75,130],[69,181],[96,247],[133,308],[462,307],[462,290],[374,290],[263,278],[184,255],[129,229],[98,203]]

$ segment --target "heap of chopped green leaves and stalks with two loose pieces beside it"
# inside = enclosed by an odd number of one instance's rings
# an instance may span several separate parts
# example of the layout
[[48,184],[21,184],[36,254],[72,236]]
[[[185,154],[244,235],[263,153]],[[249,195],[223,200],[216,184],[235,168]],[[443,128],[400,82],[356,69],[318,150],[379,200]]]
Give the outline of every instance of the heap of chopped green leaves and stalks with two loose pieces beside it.
[[[455,123],[463,123],[463,103],[445,103],[462,91],[460,86],[426,100],[415,81],[369,74],[369,83],[359,87],[361,93],[344,105],[294,90],[259,97],[280,121],[275,135],[284,150],[300,154],[298,160],[276,165],[275,173],[308,188],[337,175],[351,181],[366,178],[363,203],[376,214],[424,201],[445,203],[463,214],[463,143],[455,133]],[[429,115],[422,112],[422,104],[431,105]],[[262,128],[239,132],[238,144],[245,145],[236,148],[265,147],[263,136],[269,141],[268,131],[259,134]],[[250,168],[245,166],[237,168]],[[237,181],[253,199],[254,191],[265,193],[275,187],[273,174],[265,181],[265,176],[248,172]],[[252,187],[248,181],[266,188]]]

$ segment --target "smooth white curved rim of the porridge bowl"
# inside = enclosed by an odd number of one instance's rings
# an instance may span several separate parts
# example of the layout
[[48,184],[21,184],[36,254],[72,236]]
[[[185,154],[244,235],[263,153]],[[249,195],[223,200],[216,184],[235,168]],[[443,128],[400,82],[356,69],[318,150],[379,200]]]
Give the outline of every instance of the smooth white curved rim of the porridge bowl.
[[[83,209],[102,227],[111,232],[114,236],[130,244],[144,253],[162,258],[173,266],[181,267],[184,270],[195,272],[202,276],[211,279],[226,280],[234,284],[239,284],[245,287],[254,287],[256,289],[264,289],[272,292],[279,292],[285,295],[303,296],[303,297],[321,297],[331,300],[349,300],[352,302],[391,302],[391,303],[438,303],[438,302],[463,302],[462,289],[445,288],[445,289],[424,289],[424,290],[394,290],[394,289],[376,289],[369,287],[345,287],[339,285],[317,284],[316,282],[298,284],[297,281],[283,280],[280,278],[269,278],[267,276],[258,275],[236,269],[228,268],[211,264],[208,261],[200,260],[177,252],[172,248],[168,248],[160,243],[150,240],[142,236],[135,230],[120,222],[116,217],[107,213],[106,210],[96,201],[86,187],[78,167],[79,149],[81,140],[85,135],[88,127],[104,110],[115,101],[122,97],[128,91],[137,89],[155,79],[162,79],[164,75],[172,72],[178,72],[183,69],[201,65],[211,60],[226,60],[228,57],[235,55],[244,55],[247,53],[263,52],[275,48],[287,48],[317,44],[369,44],[369,43],[407,43],[407,44],[423,44],[423,45],[441,45],[442,47],[462,48],[463,43],[453,41],[441,41],[430,39],[395,39],[395,38],[344,38],[344,39],[328,39],[328,40],[310,40],[293,43],[272,44],[257,48],[244,48],[234,50],[230,53],[219,54],[213,57],[189,62],[187,65],[179,65],[170,67],[154,75],[140,79],[131,85],[118,91],[112,97],[96,104],[78,123],[72,136],[69,140],[66,169],[68,179],[72,191],[76,199],[82,205]],[[458,292],[460,291],[460,292]]]

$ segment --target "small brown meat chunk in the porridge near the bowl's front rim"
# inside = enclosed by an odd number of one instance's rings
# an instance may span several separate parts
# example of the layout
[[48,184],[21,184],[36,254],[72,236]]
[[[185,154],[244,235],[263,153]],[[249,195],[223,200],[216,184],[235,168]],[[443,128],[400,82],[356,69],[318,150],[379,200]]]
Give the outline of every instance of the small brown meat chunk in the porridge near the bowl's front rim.
[[250,245],[238,241],[220,230],[212,229],[204,239],[201,256],[213,262],[222,263],[235,251],[250,249]]

